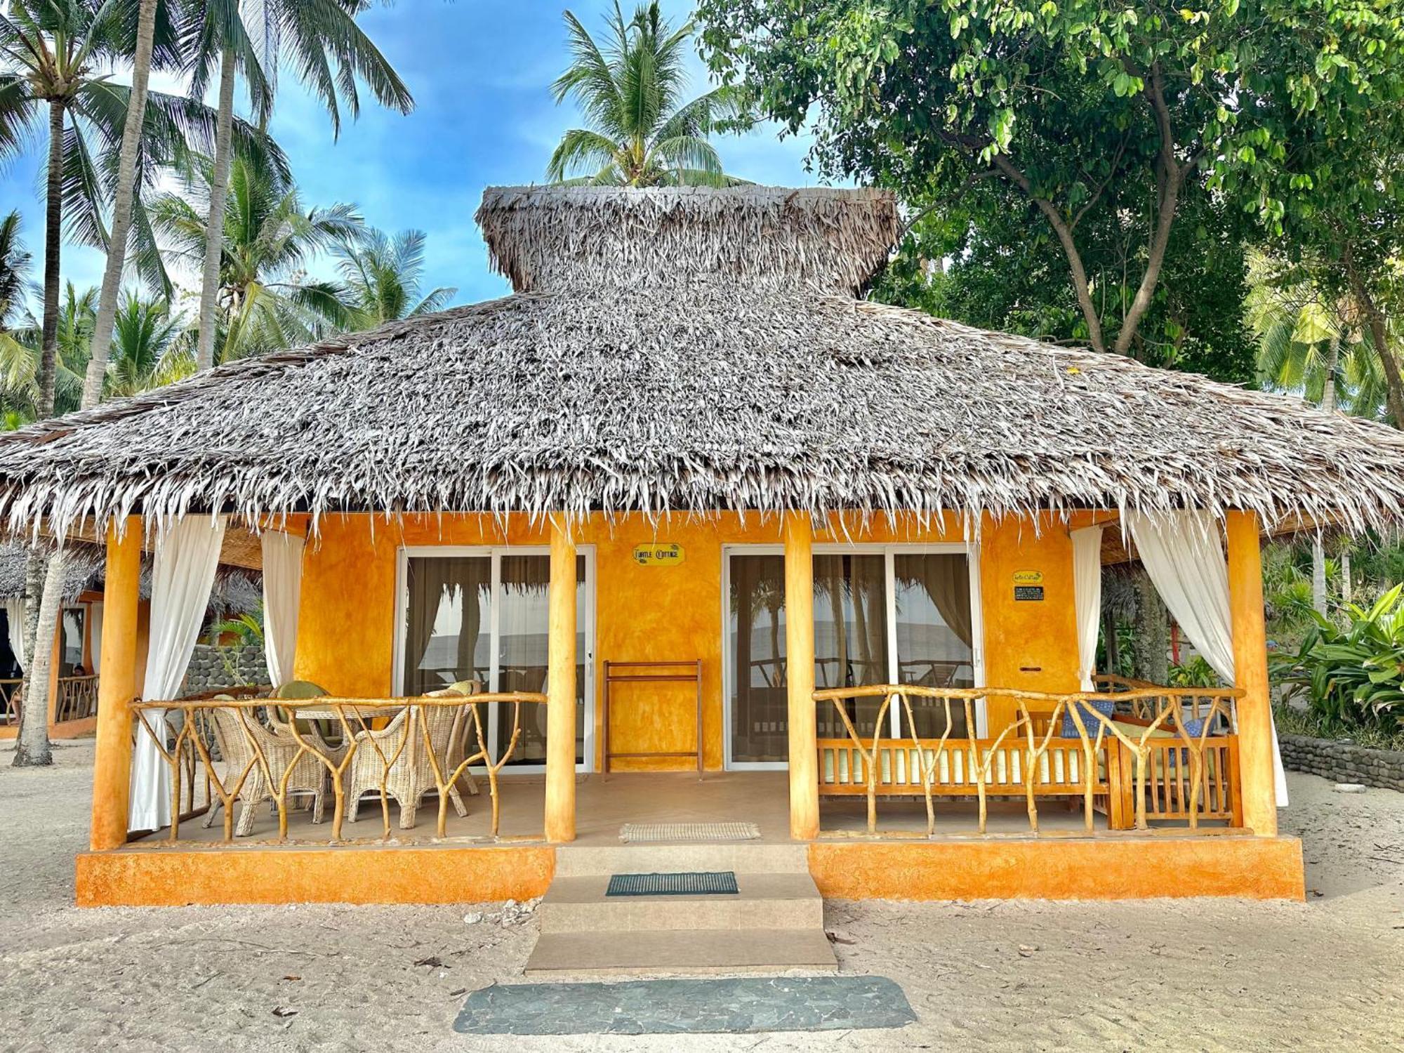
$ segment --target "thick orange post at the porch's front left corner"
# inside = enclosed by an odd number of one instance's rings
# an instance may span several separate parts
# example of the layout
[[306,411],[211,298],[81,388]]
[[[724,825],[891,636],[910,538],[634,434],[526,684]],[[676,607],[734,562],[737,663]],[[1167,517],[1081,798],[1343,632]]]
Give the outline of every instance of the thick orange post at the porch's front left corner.
[[142,581],[142,521],[126,521],[107,536],[107,577],[102,592],[102,651],[98,670],[97,743],[93,758],[94,852],[126,844],[128,797],[132,779],[132,713],[136,698],[136,608]]

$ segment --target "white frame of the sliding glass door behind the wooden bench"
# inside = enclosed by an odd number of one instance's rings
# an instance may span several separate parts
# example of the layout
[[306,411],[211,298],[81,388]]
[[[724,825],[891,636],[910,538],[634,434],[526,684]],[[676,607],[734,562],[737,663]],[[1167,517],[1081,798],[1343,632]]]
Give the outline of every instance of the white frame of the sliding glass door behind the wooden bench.
[[[897,682],[897,588],[894,574],[894,560],[899,555],[945,553],[966,557],[970,571],[970,661],[974,685],[986,687],[984,682],[984,608],[980,597],[980,546],[974,542],[924,542],[924,543],[828,543],[814,545],[816,556],[883,556],[883,576],[886,578],[887,601],[887,677],[889,682]],[[788,761],[736,761],[731,758],[731,696],[736,680],[734,654],[731,653],[731,556],[783,556],[782,545],[723,545],[722,546],[722,746],[726,771],[786,771]],[[889,715],[892,720],[890,734],[897,737],[900,730],[900,713],[894,706]],[[976,737],[986,737],[986,703],[979,699],[974,703]]]

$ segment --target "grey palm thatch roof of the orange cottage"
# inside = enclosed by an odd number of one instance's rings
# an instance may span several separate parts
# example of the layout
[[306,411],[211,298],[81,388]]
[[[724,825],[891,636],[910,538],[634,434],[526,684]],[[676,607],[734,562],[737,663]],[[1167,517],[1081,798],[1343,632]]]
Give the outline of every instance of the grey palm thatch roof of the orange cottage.
[[1393,524],[1404,435],[858,299],[876,191],[489,190],[515,293],[0,438],[0,518],[1082,507]]

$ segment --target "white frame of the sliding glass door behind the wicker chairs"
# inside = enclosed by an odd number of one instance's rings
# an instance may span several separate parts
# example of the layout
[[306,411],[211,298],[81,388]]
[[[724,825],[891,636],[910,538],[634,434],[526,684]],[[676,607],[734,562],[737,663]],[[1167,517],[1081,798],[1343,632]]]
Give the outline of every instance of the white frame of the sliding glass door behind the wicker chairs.
[[[395,660],[390,670],[392,694],[402,691],[404,684],[404,637],[409,632],[409,569],[410,557],[439,556],[442,559],[458,557],[487,557],[491,560],[491,605],[489,609],[489,691],[496,691],[498,682],[498,615],[501,612],[500,598],[503,590],[503,556],[549,556],[548,545],[400,545],[395,553]],[[584,760],[576,764],[577,772],[592,772],[595,762],[595,546],[578,545],[576,555],[585,560],[585,595],[577,611],[580,628],[584,629],[585,651],[585,682],[584,682]],[[487,741],[489,750],[497,750],[497,723],[501,717],[501,706],[489,708]],[[525,712],[522,717],[525,719]],[[545,764],[512,764],[503,768],[508,772],[543,772]]]

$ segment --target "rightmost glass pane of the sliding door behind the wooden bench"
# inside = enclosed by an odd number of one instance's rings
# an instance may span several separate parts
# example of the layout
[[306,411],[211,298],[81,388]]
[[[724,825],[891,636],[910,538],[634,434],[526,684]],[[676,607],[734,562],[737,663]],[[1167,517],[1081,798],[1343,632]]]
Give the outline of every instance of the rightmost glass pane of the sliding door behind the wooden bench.
[[[925,688],[974,687],[974,630],[970,562],[963,553],[914,552],[893,556],[897,682]],[[945,703],[913,699],[913,723],[922,739],[946,729]],[[951,703],[951,734],[966,736],[965,706]]]

